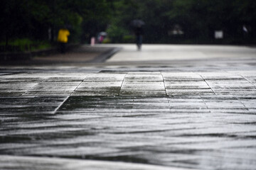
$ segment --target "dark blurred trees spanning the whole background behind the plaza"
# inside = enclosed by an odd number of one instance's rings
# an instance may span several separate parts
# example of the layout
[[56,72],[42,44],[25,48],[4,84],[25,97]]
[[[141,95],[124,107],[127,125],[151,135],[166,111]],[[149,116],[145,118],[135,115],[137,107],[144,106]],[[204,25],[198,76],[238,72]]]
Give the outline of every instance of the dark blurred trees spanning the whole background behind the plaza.
[[[255,8],[255,0],[1,0],[0,38],[5,47],[17,40],[48,47],[66,27],[69,42],[88,43],[101,31],[108,33],[104,42],[133,42],[130,23],[139,18],[147,43],[247,44],[255,43]],[[171,34],[176,26],[183,34]],[[215,40],[215,30],[223,30],[223,40]]]

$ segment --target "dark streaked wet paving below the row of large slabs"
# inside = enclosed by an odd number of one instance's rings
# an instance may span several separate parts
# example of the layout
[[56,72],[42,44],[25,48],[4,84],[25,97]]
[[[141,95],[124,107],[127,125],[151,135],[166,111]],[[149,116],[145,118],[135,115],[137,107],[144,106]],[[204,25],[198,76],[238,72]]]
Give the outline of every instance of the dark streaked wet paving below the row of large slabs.
[[1,98],[0,152],[254,169],[256,114],[250,109],[255,102],[231,96]]

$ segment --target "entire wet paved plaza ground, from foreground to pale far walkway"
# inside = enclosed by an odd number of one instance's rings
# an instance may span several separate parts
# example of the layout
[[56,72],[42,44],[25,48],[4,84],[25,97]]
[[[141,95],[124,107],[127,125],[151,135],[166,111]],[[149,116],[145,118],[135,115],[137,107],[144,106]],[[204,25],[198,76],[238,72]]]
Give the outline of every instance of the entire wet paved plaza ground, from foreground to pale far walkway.
[[256,48],[0,65],[0,169],[255,169]]

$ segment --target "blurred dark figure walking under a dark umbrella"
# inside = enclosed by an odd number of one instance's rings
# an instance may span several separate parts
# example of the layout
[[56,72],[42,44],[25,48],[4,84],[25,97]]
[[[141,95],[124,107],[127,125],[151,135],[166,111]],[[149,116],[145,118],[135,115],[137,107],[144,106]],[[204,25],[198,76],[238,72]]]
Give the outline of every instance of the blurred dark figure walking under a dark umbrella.
[[142,20],[134,20],[132,21],[132,26],[134,27],[134,34],[136,35],[136,45],[137,49],[142,50],[142,35],[144,35],[144,30],[142,26],[144,26],[144,21]]

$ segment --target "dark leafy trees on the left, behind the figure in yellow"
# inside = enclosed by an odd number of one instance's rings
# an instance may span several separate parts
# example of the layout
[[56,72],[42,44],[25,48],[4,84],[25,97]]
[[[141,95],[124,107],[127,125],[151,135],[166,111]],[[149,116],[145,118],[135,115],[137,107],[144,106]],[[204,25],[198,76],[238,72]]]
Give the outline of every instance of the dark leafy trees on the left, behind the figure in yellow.
[[112,1],[106,0],[1,0],[0,38],[8,45],[11,39],[30,38],[51,41],[58,30],[70,30],[70,42],[90,39],[105,30],[112,13]]

